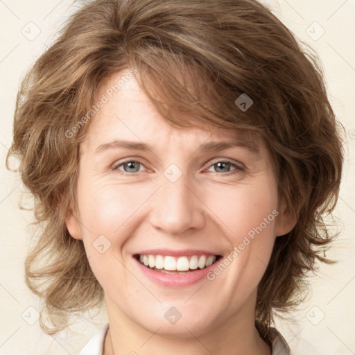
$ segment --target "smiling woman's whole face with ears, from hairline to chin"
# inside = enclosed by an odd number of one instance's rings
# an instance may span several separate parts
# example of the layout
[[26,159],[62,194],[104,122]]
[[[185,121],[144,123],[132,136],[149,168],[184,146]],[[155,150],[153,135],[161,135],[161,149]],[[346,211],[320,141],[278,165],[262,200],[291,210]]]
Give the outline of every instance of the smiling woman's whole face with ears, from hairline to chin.
[[134,76],[111,98],[126,72],[98,92],[105,102],[80,146],[78,212],[66,220],[109,315],[175,336],[241,315],[254,322],[275,237],[293,227],[266,148],[232,130],[172,128]]

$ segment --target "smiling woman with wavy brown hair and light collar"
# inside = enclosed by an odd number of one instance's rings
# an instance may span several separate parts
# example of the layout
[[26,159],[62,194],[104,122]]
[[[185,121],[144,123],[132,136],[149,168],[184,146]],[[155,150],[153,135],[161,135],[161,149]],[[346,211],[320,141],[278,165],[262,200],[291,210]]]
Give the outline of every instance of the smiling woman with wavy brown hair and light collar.
[[10,150],[45,225],[26,260],[44,331],[104,300],[82,355],[289,354],[272,315],[328,261],[337,124],[256,1],[84,6],[25,78]]

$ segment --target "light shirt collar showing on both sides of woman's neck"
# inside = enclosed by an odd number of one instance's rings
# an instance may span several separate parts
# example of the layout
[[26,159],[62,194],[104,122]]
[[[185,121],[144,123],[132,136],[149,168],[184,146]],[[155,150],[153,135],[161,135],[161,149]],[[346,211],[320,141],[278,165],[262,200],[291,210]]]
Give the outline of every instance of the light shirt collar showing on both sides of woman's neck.
[[[89,340],[89,343],[81,350],[80,355],[103,355],[103,346],[108,329],[109,324],[105,324],[105,326]],[[275,328],[270,328],[270,336],[272,338],[272,355],[291,355],[290,348],[279,331]]]

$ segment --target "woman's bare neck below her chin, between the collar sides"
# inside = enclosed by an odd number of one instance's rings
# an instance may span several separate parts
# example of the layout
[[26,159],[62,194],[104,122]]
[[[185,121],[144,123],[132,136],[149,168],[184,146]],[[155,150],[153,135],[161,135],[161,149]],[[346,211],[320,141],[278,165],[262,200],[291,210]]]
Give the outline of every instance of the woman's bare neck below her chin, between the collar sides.
[[[162,332],[159,324],[155,331],[148,331],[126,317],[110,300],[106,299],[106,304],[110,329],[105,339],[104,355],[271,355],[270,346],[261,339],[254,325],[254,309],[248,310],[248,307],[220,324],[216,322],[216,325],[206,327],[206,331],[199,334],[184,327],[185,331],[176,335]],[[252,313],[246,315],[245,311]]]

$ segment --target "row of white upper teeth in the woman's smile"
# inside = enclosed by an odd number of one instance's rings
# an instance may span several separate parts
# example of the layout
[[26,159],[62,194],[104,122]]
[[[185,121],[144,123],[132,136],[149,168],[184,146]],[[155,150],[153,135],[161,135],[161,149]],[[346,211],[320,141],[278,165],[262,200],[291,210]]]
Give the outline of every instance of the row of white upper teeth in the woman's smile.
[[212,265],[216,261],[216,255],[193,255],[190,260],[188,257],[163,257],[162,255],[139,255],[139,261],[150,268],[165,269],[165,270],[195,270],[197,268],[203,269]]

